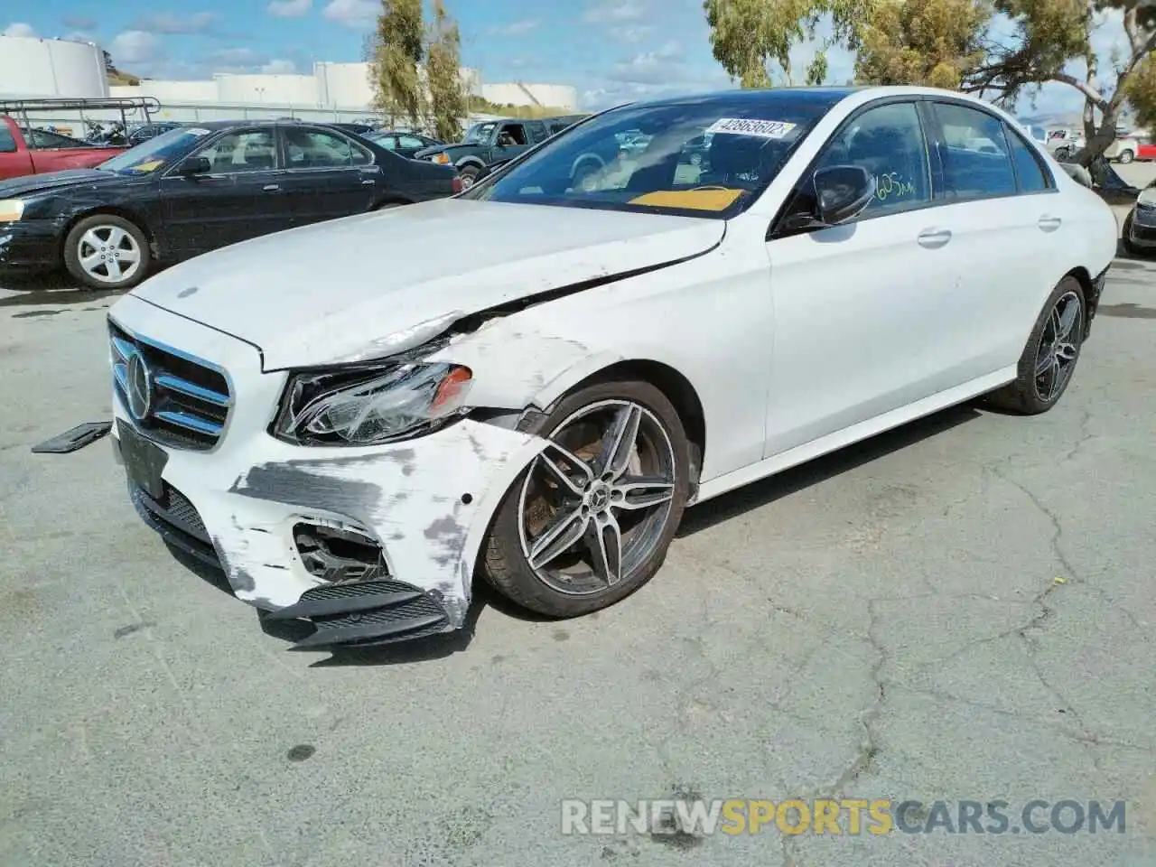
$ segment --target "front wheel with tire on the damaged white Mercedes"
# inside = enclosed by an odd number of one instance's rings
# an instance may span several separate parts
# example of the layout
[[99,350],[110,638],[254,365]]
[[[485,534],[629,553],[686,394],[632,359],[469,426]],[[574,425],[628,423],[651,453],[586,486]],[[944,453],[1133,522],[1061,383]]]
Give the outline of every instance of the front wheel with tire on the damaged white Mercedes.
[[[625,425],[635,437],[627,449],[607,450],[615,459],[603,473],[601,449],[614,442],[614,432],[622,430],[615,424],[625,420],[637,420]],[[483,548],[482,571],[499,593],[550,617],[577,617],[614,605],[659,570],[682,518],[690,490],[690,445],[682,421],[653,385],[610,380],[564,397],[531,430],[550,445],[503,497]],[[578,472],[583,461],[590,474]],[[603,483],[615,473],[614,481]],[[624,492],[623,484],[636,488]],[[572,520],[562,517],[563,501]],[[543,544],[558,528],[558,543]],[[618,569],[613,554],[595,558],[595,551],[613,551],[616,536]],[[572,543],[565,544],[569,539]],[[541,549],[536,569],[531,565],[535,546]]]

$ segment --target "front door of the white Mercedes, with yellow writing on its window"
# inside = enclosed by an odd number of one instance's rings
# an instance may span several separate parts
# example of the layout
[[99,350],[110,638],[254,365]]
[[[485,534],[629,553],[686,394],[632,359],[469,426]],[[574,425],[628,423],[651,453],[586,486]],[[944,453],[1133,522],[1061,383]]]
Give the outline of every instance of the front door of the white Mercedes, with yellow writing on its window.
[[[714,135],[712,171],[727,168]],[[813,213],[813,171],[857,165],[876,193],[854,220],[791,230]],[[914,101],[851,116],[803,173],[769,234],[775,307],[764,457],[898,409],[935,390],[934,346],[957,327],[958,261],[934,198],[932,158]],[[959,311],[965,314],[965,310]]]

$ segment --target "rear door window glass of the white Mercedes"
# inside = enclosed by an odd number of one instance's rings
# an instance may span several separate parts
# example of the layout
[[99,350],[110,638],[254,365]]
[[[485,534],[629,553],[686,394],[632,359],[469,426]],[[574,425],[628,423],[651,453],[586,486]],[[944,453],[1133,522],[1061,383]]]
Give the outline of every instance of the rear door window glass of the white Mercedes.
[[1015,194],[1002,120],[951,103],[935,103],[935,117],[943,131],[940,158],[948,195],[986,199]]

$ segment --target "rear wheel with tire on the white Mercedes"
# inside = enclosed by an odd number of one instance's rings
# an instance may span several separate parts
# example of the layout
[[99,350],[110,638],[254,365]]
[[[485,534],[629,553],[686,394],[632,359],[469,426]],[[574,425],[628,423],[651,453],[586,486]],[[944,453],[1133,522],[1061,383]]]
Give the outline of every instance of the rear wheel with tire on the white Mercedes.
[[[1087,317],[1083,287],[1075,277],[1064,277],[1047,297],[1031,329],[1020,356],[1015,381],[992,392],[988,401],[1017,415],[1039,415],[1054,407],[1072,381],[1080,361]],[[1044,368],[1048,358],[1052,363]],[[1040,370],[1044,372],[1037,376]],[[1052,375],[1057,378],[1051,379]]]

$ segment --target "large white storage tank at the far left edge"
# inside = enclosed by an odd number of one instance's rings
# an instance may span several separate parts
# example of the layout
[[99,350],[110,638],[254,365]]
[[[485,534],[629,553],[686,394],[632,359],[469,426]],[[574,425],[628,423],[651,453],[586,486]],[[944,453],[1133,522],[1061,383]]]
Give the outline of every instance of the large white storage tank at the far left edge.
[[104,52],[90,42],[0,36],[0,94],[47,99],[106,97]]

